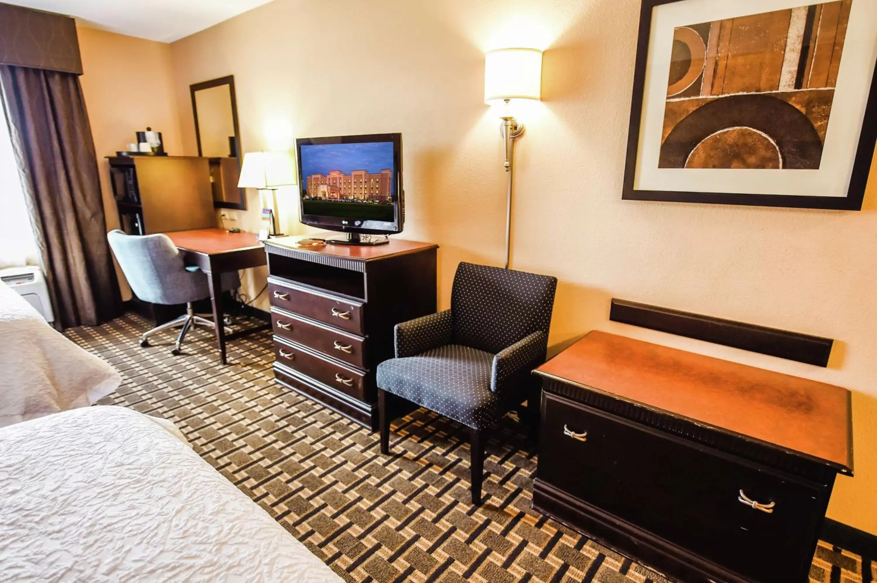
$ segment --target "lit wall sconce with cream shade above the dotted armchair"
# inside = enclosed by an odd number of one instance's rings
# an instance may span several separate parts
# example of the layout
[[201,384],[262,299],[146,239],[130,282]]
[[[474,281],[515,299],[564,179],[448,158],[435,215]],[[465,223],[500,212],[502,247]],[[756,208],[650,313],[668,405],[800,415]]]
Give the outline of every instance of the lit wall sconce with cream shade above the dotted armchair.
[[502,103],[503,148],[508,173],[508,200],[505,217],[505,268],[509,268],[511,236],[511,189],[514,172],[515,139],[524,133],[524,124],[512,116],[512,99],[542,97],[542,51],[535,48],[501,48],[484,55],[484,103]]

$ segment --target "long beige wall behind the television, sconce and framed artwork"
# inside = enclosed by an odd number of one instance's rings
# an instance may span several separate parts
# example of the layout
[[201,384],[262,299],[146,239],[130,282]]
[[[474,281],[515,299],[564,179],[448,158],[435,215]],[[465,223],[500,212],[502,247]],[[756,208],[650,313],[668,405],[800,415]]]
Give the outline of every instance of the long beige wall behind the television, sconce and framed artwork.
[[[639,5],[276,0],[171,46],[184,153],[195,150],[189,83],[222,75],[235,75],[245,152],[403,132],[403,237],[441,245],[445,307],[460,260],[503,260],[505,176],[498,119],[482,103],[483,53],[548,49],[544,101],[519,113],[513,267],[560,278],[553,349],[601,329],[849,387],[856,477],[838,478],[829,515],[877,533],[874,183],[863,212],[622,201]],[[330,21],[331,31],[313,25]],[[146,123],[173,125],[133,125]],[[283,228],[301,232],[295,193],[282,199]],[[253,229],[253,193],[250,205],[239,225]],[[613,296],[838,346],[824,369],[709,345],[610,323]]]

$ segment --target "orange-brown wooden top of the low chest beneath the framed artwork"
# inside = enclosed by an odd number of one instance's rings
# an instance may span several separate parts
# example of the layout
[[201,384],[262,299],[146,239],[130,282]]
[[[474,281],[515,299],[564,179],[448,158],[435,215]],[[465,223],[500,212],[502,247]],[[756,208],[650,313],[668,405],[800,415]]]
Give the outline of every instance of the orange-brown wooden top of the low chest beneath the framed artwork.
[[842,387],[602,331],[537,373],[852,471],[851,394]]

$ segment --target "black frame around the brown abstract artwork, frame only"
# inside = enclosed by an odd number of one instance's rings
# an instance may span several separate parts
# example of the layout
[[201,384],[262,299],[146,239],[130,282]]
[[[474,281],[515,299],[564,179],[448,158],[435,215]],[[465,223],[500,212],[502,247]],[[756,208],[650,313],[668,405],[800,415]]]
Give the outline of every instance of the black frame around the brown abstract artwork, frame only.
[[674,4],[685,1],[687,0],[642,0],[639,14],[637,60],[633,76],[631,124],[627,137],[627,160],[624,167],[622,199],[672,203],[737,204],[796,209],[861,210],[865,198],[868,175],[871,172],[874,149],[875,145],[877,145],[877,64],[875,64],[871,78],[871,89],[869,89],[867,98],[865,117],[862,120],[859,146],[853,162],[847,196],[752,195],[722,192],[639,190],[634,188],[634,180],[637,173],[645,74],[649,56],[649,35],[652,30],[652,11],[655,7],[662,4]]

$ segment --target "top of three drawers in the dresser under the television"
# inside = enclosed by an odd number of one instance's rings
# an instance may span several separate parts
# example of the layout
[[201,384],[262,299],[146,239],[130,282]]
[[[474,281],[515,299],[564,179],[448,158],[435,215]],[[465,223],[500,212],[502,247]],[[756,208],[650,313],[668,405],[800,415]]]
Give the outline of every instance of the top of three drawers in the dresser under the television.
[[277,281],[268,282],[268,295],[273,306],[354,334],[363,333],[362,302],[320,294]]

